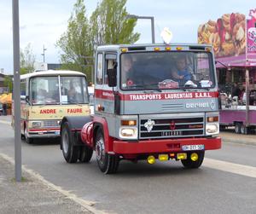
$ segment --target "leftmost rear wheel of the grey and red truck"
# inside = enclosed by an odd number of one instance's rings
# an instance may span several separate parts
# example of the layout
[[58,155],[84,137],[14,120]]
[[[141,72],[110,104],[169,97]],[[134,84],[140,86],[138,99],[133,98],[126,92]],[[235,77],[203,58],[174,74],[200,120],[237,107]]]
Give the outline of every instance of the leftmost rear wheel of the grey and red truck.
[[74,147],[73,141],[73,133],[68,122],[65,122],[61,130],[61,148],[67,163],[76,163],[79,158],[79,147]]

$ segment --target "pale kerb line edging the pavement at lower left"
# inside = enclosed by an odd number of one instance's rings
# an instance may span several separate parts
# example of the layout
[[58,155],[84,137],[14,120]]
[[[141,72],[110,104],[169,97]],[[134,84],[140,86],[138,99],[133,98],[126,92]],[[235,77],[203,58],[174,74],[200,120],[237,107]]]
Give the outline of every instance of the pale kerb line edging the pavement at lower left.
[[[15,160],[13,158],[9,157],[8,155],[6,155],[4,153],[0,153],[0,156],[3,159],[6,159],[7,161],[9,161],[9,163],[11,163],[12,165],[15,165]],[[48,182],[47,180],[44,179],[44,176],[41,176],[37,172],[26,168],[26,166],[24,166],[24,165],[22,165],[22,170],[26,171],[26,173],[28,173],[32,177],[36,178],[39,182],[42,182],[46,187],[52,188],[55,191],[63,194],[68,199],[73,200],[74,202],[76,202],[79,205],[82,205],[88,211],[91,211],[92,213],[95,213],[95,214],[106,214],[107,213],[104,211],[97,211],[95,208],[91,207],[92,205],[95,205],[96,202],[89,201],[89,200],[83,200],[83,199],[79,198],[76,194],[71,194],[69,191],[67,191],[59,186],[56,186],[52,182]]]

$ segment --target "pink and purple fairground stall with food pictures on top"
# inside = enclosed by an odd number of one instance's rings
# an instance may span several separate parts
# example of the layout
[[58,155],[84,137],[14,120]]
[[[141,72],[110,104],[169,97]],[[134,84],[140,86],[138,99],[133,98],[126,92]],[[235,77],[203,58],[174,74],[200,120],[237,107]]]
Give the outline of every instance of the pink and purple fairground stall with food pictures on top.
[[221,128],[236,133],[256,128],[256,9],[224,14],[199,26],[198,42],[211,43],[218,69]]

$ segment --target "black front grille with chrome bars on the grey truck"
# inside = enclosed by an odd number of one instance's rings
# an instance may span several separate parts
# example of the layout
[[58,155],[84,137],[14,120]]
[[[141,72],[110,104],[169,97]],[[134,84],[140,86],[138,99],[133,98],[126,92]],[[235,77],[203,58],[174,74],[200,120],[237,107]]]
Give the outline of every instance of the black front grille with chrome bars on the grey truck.
[[140,119],[140,139],[177,138],[204,135],[205,121],[203,117],[150,119],[154,125],[152,130],[149,132],[145,127],[148,119]]

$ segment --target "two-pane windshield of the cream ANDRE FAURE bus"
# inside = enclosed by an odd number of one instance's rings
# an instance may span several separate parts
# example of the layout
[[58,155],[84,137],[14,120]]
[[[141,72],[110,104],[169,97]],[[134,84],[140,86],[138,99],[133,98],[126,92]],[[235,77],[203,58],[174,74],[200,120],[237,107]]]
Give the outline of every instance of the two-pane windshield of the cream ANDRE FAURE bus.
[[[33,105],[88,103],[84,77],[37,77],[30,80]],[[61,93],[61,94],[60,94]]]

